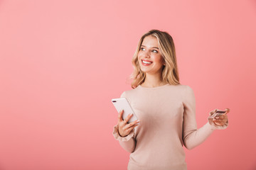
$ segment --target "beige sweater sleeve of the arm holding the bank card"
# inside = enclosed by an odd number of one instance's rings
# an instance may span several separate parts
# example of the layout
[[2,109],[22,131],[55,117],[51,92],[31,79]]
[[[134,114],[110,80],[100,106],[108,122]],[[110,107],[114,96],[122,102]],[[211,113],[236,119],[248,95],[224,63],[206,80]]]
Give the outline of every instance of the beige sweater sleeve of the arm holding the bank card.
[[228,127],[228,123],[223,126],[218,126],[208,120],[206,125],[197,129],[196,99],[193,89],[186,86],[186,93],[183,97],[183,144],[187,149],[193,149],[200,145],[215,129],[225,129]]

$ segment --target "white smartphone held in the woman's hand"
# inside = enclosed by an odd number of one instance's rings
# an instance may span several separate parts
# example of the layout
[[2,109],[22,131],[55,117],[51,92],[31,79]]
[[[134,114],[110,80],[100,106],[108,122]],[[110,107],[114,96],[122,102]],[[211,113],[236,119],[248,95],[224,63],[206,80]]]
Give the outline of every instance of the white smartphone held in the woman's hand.
[[129,115],[129,113],[132,113],[133,115],[132,115],[132,118],[128,120],[128,123],[132,123],[133,121],[137,120],[137,117],[134,111],[132,111],[132,108],[129,105],[129,102],[127,101],[126,98],[113,98],[112,103],[114,107],[117,109],[118,113],[124,110],[124,113],[122,114],[123,120]]

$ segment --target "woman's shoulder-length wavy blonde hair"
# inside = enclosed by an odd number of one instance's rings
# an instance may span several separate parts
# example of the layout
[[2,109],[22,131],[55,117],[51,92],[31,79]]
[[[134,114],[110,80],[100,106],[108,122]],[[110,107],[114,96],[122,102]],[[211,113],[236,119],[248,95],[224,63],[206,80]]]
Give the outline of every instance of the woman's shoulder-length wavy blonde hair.
[[169,35],[169,33],[160,30],[149,30],[148,33],[145,33],[144,35],[142,35],[142,38],[140,38],[137,50],[132,57],[132,65],[134,67],[134,71],[129,77],[133,80],[131,84],[132,89],[142,84],[146,78],[146,74],[142,72],[139,67],[138,53],[144,38],[149,35],[156,37],[159,44],[159,51],[161,53],[161,56],[164,58],[164,62],[166,63],[162,69],[163,81],[171,85],[180,84],[173,38],[171,38],[171,35]]

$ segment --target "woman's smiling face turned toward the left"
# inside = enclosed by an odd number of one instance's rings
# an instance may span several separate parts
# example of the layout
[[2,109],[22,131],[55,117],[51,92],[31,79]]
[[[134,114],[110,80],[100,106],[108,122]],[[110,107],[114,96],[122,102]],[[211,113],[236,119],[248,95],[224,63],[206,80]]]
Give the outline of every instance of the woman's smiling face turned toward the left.
[[138,53],[139,67],[147,74],[160,74],[164,59],[160,54],[157,39],[154,36],[144,38]]

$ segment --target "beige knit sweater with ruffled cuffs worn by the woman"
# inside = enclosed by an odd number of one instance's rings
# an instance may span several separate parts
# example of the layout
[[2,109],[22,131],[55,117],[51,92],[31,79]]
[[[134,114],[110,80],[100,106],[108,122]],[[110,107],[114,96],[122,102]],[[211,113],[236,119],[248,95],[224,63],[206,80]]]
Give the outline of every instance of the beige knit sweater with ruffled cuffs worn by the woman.
[[196,101],[193,90],[186,85],[148,88],[138,86],[124,91],[140,124],[127,137],[113,135],[130,152],[129,170],[183,170],[186,169],[183,145],[192,149],[200,145],[215,129],[225,129],[208,120],[197,129]]

